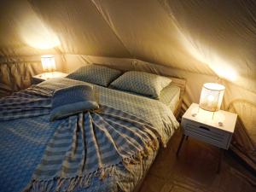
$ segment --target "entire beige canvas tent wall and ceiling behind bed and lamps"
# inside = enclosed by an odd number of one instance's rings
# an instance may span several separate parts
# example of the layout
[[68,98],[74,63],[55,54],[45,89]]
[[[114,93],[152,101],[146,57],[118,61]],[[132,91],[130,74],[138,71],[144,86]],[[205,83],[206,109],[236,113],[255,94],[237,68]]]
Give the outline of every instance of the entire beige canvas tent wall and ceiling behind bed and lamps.
[[239,115],[232,149],[256,169],[256,2],[253,0],[3,0],[0,96],[41,73],[97,63],[187,80],[183,112],[202,84],[224,84],[222,108]]

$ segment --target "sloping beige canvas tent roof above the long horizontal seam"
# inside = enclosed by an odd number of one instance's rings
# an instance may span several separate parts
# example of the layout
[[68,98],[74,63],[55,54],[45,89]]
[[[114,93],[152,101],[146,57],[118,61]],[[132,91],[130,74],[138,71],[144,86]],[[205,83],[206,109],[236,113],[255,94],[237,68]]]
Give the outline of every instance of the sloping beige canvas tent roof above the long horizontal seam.
[[5,0],[0,54],[136,58],[256,92],[255,9],[253,0]]

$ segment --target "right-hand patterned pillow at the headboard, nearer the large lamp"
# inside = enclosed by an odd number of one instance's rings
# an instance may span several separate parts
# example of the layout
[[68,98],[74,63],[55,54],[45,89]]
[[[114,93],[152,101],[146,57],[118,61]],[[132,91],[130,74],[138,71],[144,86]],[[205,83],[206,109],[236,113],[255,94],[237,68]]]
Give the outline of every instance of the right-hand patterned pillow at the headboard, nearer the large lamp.
[[160,75],[131,71],[114,80],[110,86],[118,90],[126,90],[159,99],[160,91],[171,82],[172,79]]

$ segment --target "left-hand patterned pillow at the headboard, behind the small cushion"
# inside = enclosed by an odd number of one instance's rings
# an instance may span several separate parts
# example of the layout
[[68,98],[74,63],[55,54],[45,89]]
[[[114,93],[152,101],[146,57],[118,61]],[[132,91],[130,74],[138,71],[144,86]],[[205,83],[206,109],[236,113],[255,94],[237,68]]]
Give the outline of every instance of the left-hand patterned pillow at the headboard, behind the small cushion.
[[98,84],[107,87],[114,79],[117,79],[121,72],[116,69],[97,65],[80,67],[77,71],[67,75],[69,79],[85,81],[90,84]]

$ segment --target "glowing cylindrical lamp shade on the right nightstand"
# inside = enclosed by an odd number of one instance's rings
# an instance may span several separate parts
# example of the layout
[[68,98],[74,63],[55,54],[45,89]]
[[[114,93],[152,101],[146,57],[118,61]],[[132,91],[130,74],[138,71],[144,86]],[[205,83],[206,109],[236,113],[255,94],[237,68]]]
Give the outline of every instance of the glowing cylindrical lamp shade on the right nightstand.
[[225,87],[222,84],[207,83],[203,85],[199,107],[207,111],[218,111],[224,96]]

